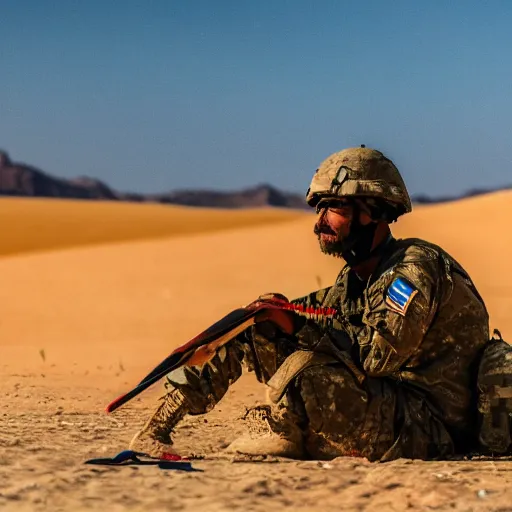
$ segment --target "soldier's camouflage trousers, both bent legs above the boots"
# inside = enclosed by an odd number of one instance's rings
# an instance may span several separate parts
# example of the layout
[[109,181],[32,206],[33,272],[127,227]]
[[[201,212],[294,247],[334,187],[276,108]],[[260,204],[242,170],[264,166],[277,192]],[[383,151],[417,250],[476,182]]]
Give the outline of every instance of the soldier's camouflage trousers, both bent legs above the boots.
[[203,368],[169,375],[172,386],[194,404],[191,414],[214,407],[242,373],[243,362],[269,385],[277,430],[300,429],[313,459],[385,461],[453,453],[450,435],[424,396],[392,379],[365,376],[329,339],[311,350],[296,340],[263,334],[253,330]]

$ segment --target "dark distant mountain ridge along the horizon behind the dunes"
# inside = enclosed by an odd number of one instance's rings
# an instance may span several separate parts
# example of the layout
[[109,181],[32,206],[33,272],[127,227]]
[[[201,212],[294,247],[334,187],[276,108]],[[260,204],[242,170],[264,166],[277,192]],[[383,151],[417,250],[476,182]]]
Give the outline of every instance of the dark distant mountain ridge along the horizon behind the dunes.
[[[502,189],[512,189],[512,185]],[[493,191],[474,189],[461,196],[438,198],[417,195],[413,196],[412,201],[417,204],[431,204],[454,201]],[[267,184],[231,192],[213,190],[175,190],[161,194],[120,192],[100,180],[87,176],[74,179],[57,178],[30,165],[13,163],[5,151],[0,151],[0,196],[2,195],[137,201],[210,208],[257,208],[263,206],[308,208],[304,195],[284,192]]]

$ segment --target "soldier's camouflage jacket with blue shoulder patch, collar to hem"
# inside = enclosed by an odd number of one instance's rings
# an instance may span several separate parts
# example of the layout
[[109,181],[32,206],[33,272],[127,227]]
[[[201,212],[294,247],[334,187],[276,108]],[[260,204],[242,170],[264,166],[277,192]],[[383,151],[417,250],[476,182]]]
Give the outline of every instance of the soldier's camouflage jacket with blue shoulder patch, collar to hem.
[[423,393],[453,433],[476,411],[479,355],[489,317],[469,275],[440,247],[392,239],[367,282],[345,267],[334,286],[297,302],[339,309],[354,362]]

